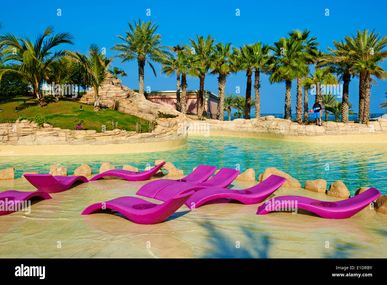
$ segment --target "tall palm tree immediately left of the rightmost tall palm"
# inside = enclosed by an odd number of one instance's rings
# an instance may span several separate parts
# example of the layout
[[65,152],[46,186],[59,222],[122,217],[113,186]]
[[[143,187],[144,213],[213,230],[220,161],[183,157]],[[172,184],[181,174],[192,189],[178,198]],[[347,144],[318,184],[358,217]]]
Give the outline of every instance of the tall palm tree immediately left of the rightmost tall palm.
[[355,75],[351,60],[352,55],[348,45],[343,41],[333,41],[333,43],[336,50],[328,47],[331,53],[320,58],[319,62],[317,62],[317,67],[327,67],[329,72],[336,73],[339,76],[339,80],[343,81],[341,122],[348,123],[349,82],[351,82],[351,76],[354,77]]

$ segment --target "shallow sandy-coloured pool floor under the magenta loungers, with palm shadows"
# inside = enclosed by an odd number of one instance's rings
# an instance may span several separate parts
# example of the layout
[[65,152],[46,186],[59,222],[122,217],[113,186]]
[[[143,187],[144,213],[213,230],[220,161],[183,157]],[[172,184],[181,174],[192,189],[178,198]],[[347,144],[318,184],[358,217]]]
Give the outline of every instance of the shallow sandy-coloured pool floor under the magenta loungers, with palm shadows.
[[[208,204],[193,210],[183,205],[156,225],[137,225],[112,211],[80,215],[93,203],[136,196],[146,182],[96,180],[33,203],[29,214],[0,216],[0,257],[385,258],[387,254],[387,215],[369,207],[343,220],[323,219],[308,211],[255,215],[264,202]],[[245,189],[255,184],[234,181],[231,186]],[[7,190],[36,189],[18,178],[0,181],[0,192]],[[340,200],[285,187],[267,199],[281,195]]]

